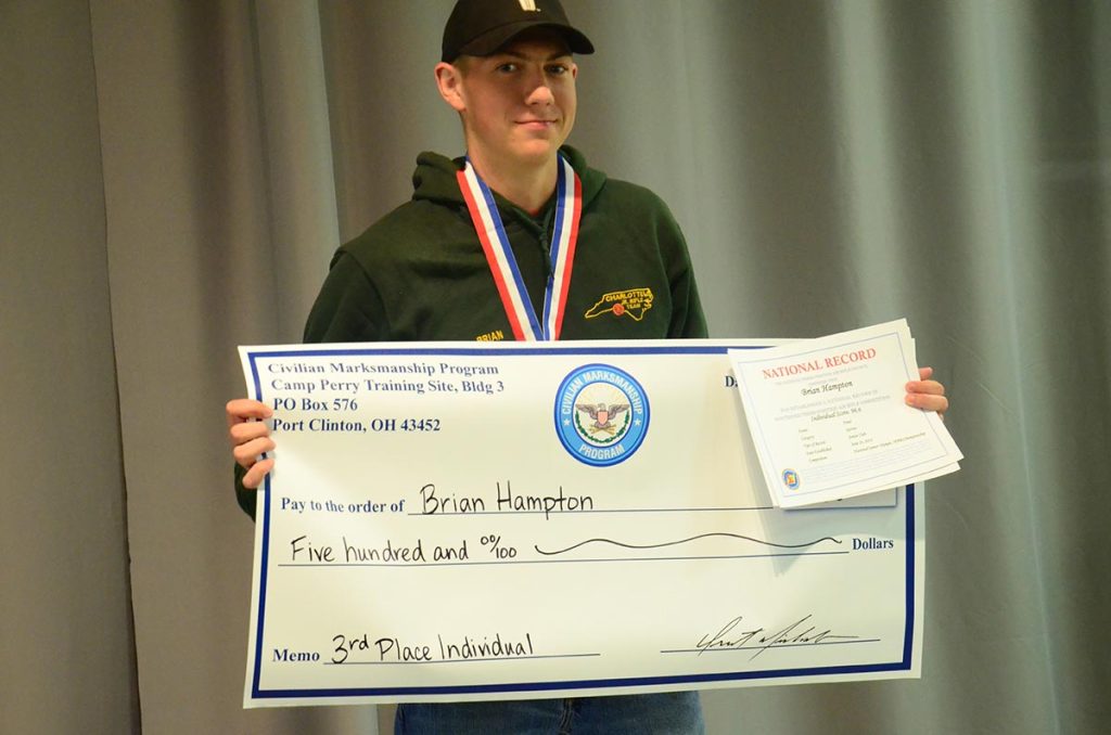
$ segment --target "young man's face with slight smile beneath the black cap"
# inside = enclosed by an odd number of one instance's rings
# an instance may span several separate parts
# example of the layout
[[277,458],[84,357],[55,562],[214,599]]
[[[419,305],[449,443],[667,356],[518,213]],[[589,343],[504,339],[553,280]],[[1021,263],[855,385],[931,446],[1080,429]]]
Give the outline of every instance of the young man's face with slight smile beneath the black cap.
[[558,37],[514,40],[493,56],[467,57],[459,97],[468,148],[491,163],[540,164],[574,125],[579,70]]

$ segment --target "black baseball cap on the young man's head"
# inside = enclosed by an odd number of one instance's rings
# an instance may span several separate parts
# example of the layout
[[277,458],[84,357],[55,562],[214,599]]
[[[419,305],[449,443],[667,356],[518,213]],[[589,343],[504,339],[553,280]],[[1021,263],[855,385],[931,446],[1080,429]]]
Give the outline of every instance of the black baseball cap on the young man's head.
[[594,44],[567,20],[559,0],[459,0],[443,27],[441,61],[462,54],[487,57],[530,28],[550,28],[573,53],[593,53]]

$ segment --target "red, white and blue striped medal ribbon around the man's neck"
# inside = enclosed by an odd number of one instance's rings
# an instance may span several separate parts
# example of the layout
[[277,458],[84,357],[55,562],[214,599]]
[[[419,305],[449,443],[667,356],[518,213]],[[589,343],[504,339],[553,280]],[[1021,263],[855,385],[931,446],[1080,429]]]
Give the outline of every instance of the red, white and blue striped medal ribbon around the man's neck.
[[579,218],[582,214],[582,182],[562,154],[557,158],[557,163],[559,174],[556,182],[551,270],[544,289],[543,321],[537,319],[490,188],[479,178],[469,158],[463,170],[457,174],[459,189],[471,213],[487,262],[490,263],[498,295],[506,308],[513,338],[518,341],[558,340],[563,326],[571,266],[574,264],[574,246],[579,239]]

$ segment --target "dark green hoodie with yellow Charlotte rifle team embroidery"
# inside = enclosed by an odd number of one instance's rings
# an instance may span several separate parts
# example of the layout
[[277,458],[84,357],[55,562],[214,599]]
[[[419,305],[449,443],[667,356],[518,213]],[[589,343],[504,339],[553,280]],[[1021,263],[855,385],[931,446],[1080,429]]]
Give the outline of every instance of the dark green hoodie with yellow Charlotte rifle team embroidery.
[[[659,197],[607,179],[563,147],[582,182],[582,214],[562,340],[702,338],[687,242]],[[512,340],[456,172],[463,160],[421,153],[412,201],[342,245],[304,326],[306,342]],[[494,194],[533,309],[550,269],[553,201],[537,217]],[[252,517],[254,493],[240,484]]]

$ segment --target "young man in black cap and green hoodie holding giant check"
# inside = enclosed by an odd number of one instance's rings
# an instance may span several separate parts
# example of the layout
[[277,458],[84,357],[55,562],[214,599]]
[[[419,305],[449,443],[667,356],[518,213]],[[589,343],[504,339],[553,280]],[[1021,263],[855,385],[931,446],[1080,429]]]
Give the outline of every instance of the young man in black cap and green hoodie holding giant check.
[[[572,53],[592,51],[557,0],[459,0],[436,81],[462,121],[467,157],[418,157],[412,201],[336,253],[306,342],[707,336],[667,207],[564,145],[577,112]],[[943,411],[929,376],[908,384],[908,403]],[[250,491],[273,466],[256,460],[274,447],[252,420],[269,415],[254,401],[228,404],[237,490],[252,514]],[[693,692],[408,704],[397,718],[399,733],[702,731]]]

